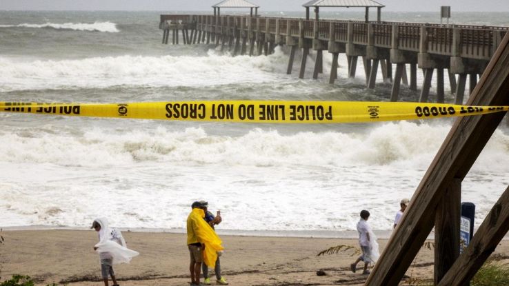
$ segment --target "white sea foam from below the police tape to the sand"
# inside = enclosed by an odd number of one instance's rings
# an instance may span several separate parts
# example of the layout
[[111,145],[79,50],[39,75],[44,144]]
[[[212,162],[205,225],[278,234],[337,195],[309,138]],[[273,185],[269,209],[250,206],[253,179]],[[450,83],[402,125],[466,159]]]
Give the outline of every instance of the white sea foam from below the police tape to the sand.
[[[119,226],[185,227],[189,203],[206,198],[223,212],[224,229],[355,229],[364,208],[375,229],[390,229],[397,201],[415,191],[449,128],[402,121],[362,133],[286,135],[2,130],[0,225],[82,226],[102,214]],[[495,132],[463,181],[479,219],[507,184],[508,149],[508,134]]]

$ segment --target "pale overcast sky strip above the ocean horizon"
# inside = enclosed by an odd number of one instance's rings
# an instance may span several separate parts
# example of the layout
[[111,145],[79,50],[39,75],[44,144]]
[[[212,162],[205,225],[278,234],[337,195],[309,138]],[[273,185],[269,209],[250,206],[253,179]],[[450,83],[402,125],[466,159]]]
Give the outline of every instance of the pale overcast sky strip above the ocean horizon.
[[[220,0],[0,0],[0,10],[156,10],[203,11]],[[250,0],[266,11],[299,11],[308,0]],[[380,0],[386,11],[509,12],[509,0]]]

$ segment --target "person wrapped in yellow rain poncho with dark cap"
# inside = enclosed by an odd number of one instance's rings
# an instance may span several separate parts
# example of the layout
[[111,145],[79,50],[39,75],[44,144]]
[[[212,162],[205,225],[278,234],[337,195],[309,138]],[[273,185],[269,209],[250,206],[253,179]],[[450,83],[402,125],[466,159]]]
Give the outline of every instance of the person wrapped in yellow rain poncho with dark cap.
[[188,249],[191,263],[191,285],[200,285],[201,263],[205,262],[208,267],[215,267],[217,252],[224,248],[221,246],[221,238],[214,229],[203,219],[205,212],[199,202],[191,205],[192,211],[188,216]]

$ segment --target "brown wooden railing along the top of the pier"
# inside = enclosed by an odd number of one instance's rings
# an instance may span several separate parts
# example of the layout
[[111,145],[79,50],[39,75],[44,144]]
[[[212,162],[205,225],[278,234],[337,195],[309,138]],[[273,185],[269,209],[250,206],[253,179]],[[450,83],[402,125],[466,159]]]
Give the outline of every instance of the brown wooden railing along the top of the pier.
[[[364,22],[321,19],[319,21],[280,17],[246,17],[213,15],[161,15],[160,28],[168,25],[194,28],[204,32],[234,35],[235,31],[253,34],[303,37],[329,41],[330,25],[334,25],[334,41],[377,48],[397,48],[430,54],[489,60],[509,27],[486,25],[440,25],[405,22]],[[315,27],[316,25],[316,27]],[[277,29],[279,27],[279,29]],[[352,27],[349,29],[349,27]],[[396,30],[395,30],[396,29]],[[397,31],[397,42],[392,34]],[[288,33],[289,32],[289,33]],[[349,35],[348,32],[351,34]],[[426,33],[426,37],[421,37]],[[426,43],[421,43],[425,39]],[[351,41],[351,42],[350,42]]]

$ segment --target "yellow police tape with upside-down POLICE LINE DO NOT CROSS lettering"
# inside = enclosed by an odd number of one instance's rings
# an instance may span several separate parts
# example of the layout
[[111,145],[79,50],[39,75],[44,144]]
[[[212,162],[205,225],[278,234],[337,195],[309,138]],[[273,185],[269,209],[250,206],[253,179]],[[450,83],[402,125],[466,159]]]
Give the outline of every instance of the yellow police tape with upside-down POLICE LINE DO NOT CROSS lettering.
[[248,123],[355,123],[508,111],[509,106],[366,101],[0,102],[0,112]]

